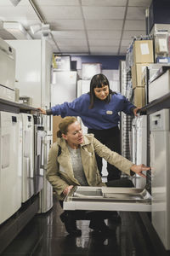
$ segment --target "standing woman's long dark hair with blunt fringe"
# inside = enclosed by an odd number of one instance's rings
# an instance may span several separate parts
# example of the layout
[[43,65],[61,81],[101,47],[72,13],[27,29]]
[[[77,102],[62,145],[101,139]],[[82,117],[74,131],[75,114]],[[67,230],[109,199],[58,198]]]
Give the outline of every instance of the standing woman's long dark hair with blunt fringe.
[[95,93],[94,93],[94,88],[96,88],[96,87],[101,88],[105,85],[108,85],[108,87],[109,87],[109,95],[107,96],[105,102],[109,103],[111,101],[112,90],[110,89],[110,84],[109,84],[108,79],[105,77],[105,75],[103,73],[96,74],[91,79],[90,91],[88,92],[88,94],[90,95],[89,109],[94,108],[94,99],[96,98]]

